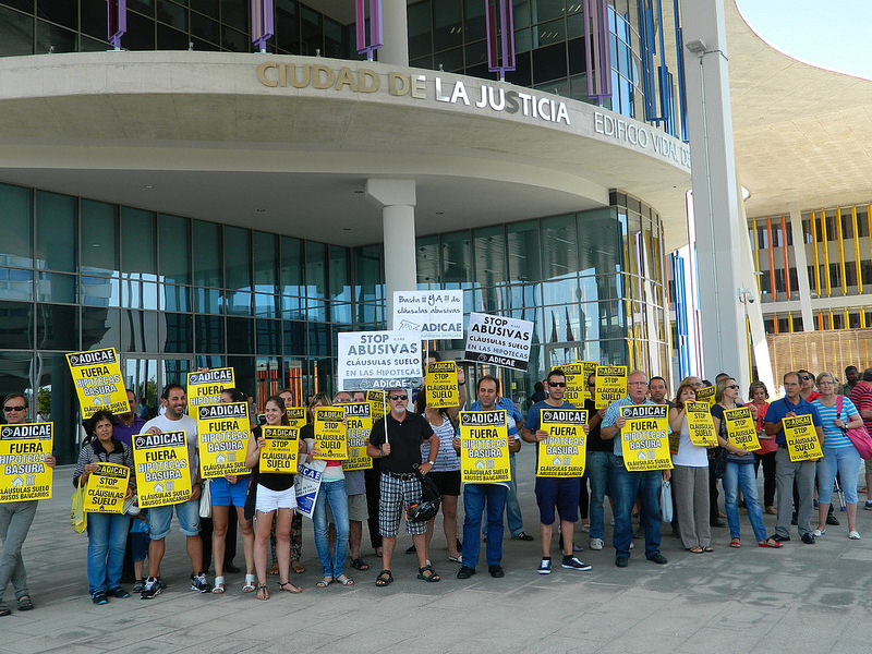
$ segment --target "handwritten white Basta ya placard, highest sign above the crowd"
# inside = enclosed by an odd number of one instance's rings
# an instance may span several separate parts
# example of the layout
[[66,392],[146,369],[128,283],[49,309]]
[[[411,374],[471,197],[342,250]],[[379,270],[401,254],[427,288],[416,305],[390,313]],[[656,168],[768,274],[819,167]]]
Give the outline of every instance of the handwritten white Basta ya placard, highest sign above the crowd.
[[463,338],[463,291],[393,291],[393,328],[422,340]]

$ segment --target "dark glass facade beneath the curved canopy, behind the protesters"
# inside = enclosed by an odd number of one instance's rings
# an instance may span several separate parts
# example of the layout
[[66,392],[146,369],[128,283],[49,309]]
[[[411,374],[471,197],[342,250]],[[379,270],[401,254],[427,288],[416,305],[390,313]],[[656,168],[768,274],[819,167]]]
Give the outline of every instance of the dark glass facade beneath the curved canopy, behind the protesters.
[[[417,239],[420,289],[462,289],[467,312],[535,324],[525,374],[487,371],[522,407],[568,361],[668,370],[659,219],[621,193],[611,205]],[[153,408],[166,383],[223,365],[258,404],[286,386],[302,402],[335,389],[337,332],[386,325],[380,244],[341,247],[8,184],[0,227],[0,395],[34,389],[64,461],[77,421],[66,352],[117,348],[125,383]],[[460,359],[463,341],[428,348]]]

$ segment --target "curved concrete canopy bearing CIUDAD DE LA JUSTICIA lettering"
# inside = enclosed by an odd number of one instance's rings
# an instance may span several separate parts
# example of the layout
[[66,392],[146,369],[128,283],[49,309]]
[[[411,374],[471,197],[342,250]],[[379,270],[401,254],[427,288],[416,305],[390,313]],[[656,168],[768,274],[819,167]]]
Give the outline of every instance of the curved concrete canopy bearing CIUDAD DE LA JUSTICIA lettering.
[[[382,90],[269,87],[257,75],[266,62],[365,68]],[[391,73],[424,75],[423,95],[388,93]],[[472,106],[438,101],[436,77],[445,94],[462,82]],[[485,85],[565,102],[569,124],[476,109]],[[341,245],[382,240],[362,193],[372,177],[416,180],[422,235],[604,206],[620,189],[661,213],[667,247],[687,238],[687,146],[542,92],[372,62],[162,51],[7,58],[0,87],[10,183]],[[597,131],[597,120],[663,147]]]

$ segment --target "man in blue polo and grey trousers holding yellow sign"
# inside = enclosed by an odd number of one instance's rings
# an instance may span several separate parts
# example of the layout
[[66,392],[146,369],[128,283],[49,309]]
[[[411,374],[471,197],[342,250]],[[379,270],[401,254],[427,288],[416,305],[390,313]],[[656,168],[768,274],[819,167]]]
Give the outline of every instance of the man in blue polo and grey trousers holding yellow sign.
[[797,530],[807,545],[814,545],[814,534],[811,533],[812,499],[814,497],[814,474],[818,462],[791,461],[787,451],[787,439],[784,435],[782,421],[785,417],[797,415],[812,416],[812,423],[818,431],[818,439],[823,443],[821,416],[818,409],[809,401],[803,400],[800,391],[799,373],[787,373],[784,376],[784,399],[776,400],[766,410],[766,422],[763,428],[766,434],[775,436],[778,449],[775,452],[775,484],[778,492],[778,516],[775,521],[773,541],[778,543],[790,540],[790,517],[794,512],[794,480],[796,479],[799,506],[797,507]]

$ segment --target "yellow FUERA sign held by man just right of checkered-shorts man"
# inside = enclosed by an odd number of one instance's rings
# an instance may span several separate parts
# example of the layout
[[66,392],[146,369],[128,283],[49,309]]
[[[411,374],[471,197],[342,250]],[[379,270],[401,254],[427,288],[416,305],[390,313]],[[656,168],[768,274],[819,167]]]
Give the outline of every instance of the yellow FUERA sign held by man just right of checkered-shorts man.
[[505,411],[460,412],[460,474],[464,484],[511,481]]

